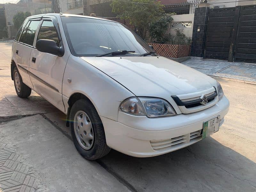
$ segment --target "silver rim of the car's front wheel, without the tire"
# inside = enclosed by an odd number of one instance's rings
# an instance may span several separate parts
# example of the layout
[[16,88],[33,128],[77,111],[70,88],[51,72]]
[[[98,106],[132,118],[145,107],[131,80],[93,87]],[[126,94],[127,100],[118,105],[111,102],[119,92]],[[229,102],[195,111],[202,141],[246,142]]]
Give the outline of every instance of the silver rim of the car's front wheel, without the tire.
[[93,146],[94,133],[92,121],[84,111],[77,111],[74,117],[74,131],[76,140],[85,150]]

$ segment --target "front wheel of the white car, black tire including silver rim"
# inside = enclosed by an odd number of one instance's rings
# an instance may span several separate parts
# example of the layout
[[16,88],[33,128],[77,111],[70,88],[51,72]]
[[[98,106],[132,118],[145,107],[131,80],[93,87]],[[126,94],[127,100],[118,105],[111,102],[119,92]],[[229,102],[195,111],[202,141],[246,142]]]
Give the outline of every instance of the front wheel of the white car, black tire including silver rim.
[[85,159],[95,160],[109,153],[103,124],[91,101],[77,100],[69,119],[74,145]]

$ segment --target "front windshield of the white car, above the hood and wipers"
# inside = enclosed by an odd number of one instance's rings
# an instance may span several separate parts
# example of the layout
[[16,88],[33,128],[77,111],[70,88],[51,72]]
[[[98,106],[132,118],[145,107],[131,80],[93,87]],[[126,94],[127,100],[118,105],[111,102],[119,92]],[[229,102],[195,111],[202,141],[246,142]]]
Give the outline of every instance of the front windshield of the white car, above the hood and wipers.
[[152,51],[147,43],[120,23],[73,16],[62,16],[61,19],[69,47],[75,56],[96,56],[123,50],[135,51],[124,56],[138,56]]

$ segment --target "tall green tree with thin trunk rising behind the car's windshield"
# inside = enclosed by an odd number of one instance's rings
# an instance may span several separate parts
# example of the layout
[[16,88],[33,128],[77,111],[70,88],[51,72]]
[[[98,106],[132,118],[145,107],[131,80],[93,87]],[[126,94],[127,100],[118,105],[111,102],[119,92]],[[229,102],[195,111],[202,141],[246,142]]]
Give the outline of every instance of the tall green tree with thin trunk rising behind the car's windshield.
[[139,36],[145,40],[149,23],[164,13],[164,5],[160,3],[155,0],[127,0],[127,2],[113,0],[110,5],[112,12],[116,13],[119,18],[128,20],[137,28]]

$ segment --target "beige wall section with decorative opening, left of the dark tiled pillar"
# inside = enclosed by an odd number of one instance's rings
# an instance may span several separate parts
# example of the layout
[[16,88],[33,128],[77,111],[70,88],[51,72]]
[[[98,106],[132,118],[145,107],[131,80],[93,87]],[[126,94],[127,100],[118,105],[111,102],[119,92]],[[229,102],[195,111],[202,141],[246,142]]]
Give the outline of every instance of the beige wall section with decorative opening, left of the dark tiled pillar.
[[[187,37],[192,37],[193,32],[193,24],[194,24],[194,13],[193,14],[183,14],[183,15],[172,15],[172,22],[170,24],[170,27],[167,30],[167,34],[171,33],[171,35],[176,35],[175,29],[177,28],[183,28],[183,33]],[[189,27],[184,27],[181,24],[178,24],[176,27],[172,27],[172,24],[180,23],[180,22],[191,22],[191,25]]]

